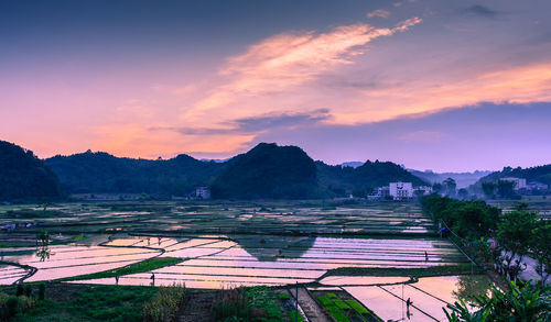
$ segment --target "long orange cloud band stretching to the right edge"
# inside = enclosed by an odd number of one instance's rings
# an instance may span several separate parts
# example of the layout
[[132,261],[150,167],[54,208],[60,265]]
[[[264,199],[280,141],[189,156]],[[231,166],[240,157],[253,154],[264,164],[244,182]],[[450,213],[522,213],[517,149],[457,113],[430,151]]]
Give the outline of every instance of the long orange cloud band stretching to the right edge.
[[334,115],[335,123],[382,121],[404,114],[461,108],[479,102],[529,103],[551,101],[551,63],[520,66],[474,75],[467,79],[401,81],[361,96]]

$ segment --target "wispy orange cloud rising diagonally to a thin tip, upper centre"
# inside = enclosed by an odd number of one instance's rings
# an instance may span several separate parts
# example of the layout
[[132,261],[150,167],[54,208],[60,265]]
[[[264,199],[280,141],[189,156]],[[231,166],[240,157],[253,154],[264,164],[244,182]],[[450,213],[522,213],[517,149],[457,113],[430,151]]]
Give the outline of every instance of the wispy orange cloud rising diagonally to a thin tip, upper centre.
[[[229,114],[240,118],[258,113],[258,107],[244,104],[244,101],[292,91],[328,70],[352,64],[352,57],[361,54],[372,40],[404,32],[421,21],[420,18],[408,19],[391,29],[357,23],[337,26],[327,33],[283,33],[269,37],[250,46],[246,53],[228,58],[219,70],[225,82],[187,110],[183,120],[197,122],[208,115],[213,121],[216,116],[222,120]],[[238,109],[233,109],[234,104]]]

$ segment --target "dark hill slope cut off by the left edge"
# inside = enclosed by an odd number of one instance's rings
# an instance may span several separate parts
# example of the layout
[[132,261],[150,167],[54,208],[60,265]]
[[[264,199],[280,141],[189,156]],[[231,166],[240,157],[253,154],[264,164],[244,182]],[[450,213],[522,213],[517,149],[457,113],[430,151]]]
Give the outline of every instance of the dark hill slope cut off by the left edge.
[[63,198],[55,174],[32,151],[0,141],[0,201]]

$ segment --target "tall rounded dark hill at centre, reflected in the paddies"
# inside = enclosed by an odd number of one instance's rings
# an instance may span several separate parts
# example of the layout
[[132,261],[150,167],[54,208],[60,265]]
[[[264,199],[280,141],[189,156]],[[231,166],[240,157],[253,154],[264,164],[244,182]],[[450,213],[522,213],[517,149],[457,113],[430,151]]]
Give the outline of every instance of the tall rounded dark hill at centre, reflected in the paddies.
[[305,199],[318,197],[316,166],[300,147],[260,143],[227,162],[210,186],[214,198]]

